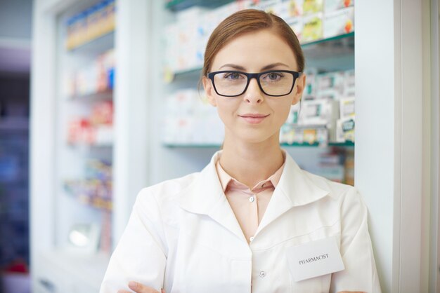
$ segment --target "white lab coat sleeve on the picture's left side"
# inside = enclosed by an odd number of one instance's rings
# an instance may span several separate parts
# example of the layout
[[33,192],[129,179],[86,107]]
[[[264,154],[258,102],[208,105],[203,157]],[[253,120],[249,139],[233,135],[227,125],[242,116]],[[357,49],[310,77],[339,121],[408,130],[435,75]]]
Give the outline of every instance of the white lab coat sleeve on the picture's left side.
[[130,280],[160,289],[163,287],[166,254],[160,207],[153,194],[143,189],[110,258],[100,293],[115,293],[127,288]]

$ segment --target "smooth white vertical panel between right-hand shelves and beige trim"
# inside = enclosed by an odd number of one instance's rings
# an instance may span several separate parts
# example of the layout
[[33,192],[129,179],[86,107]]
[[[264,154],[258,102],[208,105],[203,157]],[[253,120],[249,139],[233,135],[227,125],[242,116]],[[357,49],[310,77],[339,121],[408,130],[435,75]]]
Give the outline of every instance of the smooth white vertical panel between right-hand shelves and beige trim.
[[391,292],[393,278],[394,54],[399,54],[394,48],[393,17],[393,1],[356,2],[355,185],[370,212],[370,234],[383,292]]

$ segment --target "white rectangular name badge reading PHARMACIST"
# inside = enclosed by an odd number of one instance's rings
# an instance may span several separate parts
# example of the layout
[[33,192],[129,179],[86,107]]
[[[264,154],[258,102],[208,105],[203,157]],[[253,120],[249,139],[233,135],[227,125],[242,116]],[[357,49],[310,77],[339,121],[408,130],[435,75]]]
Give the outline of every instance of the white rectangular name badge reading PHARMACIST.
[[288,247],[287,262],[296,282],[344,270],[336,238]]

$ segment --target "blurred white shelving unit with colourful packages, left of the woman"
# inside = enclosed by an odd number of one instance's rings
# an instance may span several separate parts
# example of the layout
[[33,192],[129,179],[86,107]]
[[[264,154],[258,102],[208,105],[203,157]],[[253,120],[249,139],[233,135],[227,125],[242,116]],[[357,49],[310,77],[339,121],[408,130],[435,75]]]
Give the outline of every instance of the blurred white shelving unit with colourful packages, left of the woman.
[[148,46],[131,35],[147,15],[146,1],[35,1],[33,292],[98,292],[147,184]]

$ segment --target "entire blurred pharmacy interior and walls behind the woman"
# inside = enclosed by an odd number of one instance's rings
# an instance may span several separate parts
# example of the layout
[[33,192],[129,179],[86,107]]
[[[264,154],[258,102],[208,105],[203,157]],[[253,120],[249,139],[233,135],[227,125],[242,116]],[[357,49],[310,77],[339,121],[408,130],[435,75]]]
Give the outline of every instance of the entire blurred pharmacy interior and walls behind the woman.
[[98,292],[138,191],[220,148],[200,69],[245,8],[306,57],[281,147],[363,193],[383,292],[435,292],[438,1],[388,2],[0,0],[0,292]]

